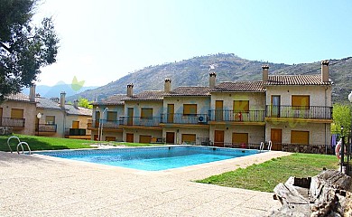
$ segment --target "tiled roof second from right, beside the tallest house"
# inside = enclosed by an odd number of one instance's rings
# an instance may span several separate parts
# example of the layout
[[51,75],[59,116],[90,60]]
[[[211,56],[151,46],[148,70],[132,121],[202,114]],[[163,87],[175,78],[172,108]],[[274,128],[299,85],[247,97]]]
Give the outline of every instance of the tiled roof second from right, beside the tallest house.
[[264,92],[263,81],[221,82],[210,92]]

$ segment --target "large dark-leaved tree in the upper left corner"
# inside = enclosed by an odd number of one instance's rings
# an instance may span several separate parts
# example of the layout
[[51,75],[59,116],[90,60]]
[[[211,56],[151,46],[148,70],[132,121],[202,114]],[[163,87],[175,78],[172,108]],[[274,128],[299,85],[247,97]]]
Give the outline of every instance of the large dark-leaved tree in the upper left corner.
[[1,0],[0,102],[37,80],[41,67],[56,61],[59,39],[51,18],[32,24],[38,0]]

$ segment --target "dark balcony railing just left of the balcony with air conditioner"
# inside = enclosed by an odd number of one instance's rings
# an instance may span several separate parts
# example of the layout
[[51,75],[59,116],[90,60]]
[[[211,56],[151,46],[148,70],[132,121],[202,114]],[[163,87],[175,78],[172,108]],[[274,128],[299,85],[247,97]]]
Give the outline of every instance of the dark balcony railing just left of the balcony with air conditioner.
[[159,117],[120,117],[122,126],[158,127],[161,121]]

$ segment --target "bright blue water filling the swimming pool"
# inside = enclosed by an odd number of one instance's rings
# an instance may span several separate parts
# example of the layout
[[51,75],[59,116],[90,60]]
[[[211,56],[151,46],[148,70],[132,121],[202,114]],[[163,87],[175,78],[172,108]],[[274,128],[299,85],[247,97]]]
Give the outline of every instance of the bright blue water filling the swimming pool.
[[116,165],[139,170],[159,171],[187,165],[215,162],[238,156],[250,156],[258,153],[258,150],[208,146],[150,146],[48,151],[36,154],[57,156],[102,165]]

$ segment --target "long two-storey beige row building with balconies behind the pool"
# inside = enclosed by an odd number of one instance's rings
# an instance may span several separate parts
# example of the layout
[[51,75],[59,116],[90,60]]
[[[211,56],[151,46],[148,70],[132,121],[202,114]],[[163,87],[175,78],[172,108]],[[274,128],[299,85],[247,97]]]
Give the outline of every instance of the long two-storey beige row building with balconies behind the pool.
[[247,148],[263,142],[274,150],[301,151],[312,145],[327,149],[332,123],[329,61],[321,61],[317,75],[270,75],[267,65],[262,73],[263,80],[217,83],[216,72],[210,71],[207,87],[172,90],[166,79],[164,90],[135,95],[129,84],[125,96],[93,103],[95,110],[119,112],[110,115],[115,131],[106,127],[99,131],[96,125],[92,138]]

